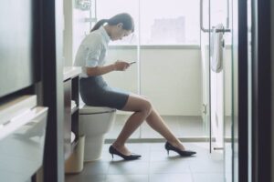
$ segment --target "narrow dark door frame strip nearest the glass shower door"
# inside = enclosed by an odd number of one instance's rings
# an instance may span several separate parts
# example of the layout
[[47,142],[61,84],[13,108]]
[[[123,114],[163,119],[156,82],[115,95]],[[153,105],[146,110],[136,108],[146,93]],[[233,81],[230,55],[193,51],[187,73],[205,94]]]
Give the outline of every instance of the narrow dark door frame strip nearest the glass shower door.
[[[237,181],[248,182],[248,0],[238,4],[238,164],[233,160],[233,177],[238,168]],[[233,154],[233,158],[236,154]],[[234,181],[234,180],[233,180]]]

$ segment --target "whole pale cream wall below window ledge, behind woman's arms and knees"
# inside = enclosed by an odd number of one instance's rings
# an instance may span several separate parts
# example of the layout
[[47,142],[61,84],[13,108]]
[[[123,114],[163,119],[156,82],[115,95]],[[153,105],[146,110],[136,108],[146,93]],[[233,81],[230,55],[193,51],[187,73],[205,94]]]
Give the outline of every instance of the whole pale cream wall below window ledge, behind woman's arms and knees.
[[[187,46],[186,46],[187,47]],[[225,54],[226,115],[231,115],[231,62],[230,49]],[[108,64],[121,59],[137,60],[137,49],[111,48]],[[144,48],[140,54],[141,94],[147,96],[161,115],[201,116],[202,67],[200,49]],[[105,75],[114,87],[138,93],[138,65],[125,72]]]

